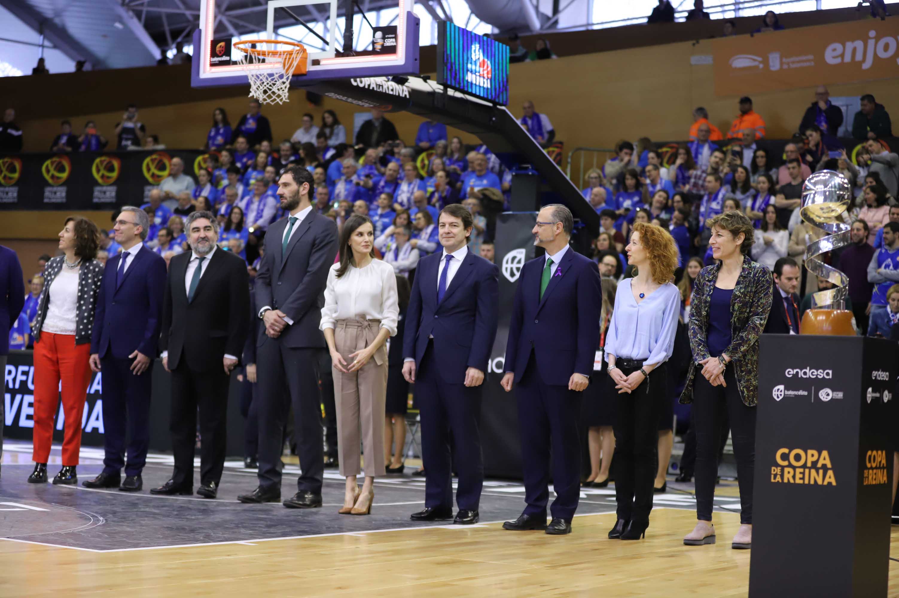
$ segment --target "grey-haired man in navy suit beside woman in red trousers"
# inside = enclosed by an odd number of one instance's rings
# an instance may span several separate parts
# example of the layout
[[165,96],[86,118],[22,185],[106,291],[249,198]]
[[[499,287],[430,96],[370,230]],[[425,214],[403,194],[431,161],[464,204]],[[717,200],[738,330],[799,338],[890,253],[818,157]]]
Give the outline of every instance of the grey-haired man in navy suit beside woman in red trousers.
[[147,212],[132,206],[121,209],[112,228],[121,253],[103,269],[90,360],[91,369],[103,375],[105,457],[100,475],[82,482],[88,488],[138,492],[143,487],[141,472],[150,442],[150,382],[165,291],[165,260],[143,244],[149,228]]

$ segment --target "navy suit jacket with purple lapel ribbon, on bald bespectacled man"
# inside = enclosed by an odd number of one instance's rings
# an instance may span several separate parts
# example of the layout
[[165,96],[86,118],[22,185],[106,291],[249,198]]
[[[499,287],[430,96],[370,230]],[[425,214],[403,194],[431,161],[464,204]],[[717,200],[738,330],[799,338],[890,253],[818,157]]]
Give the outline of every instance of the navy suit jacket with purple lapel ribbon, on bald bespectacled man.
[[504,370],[521,381],[533,349],[543,382],[568,386],[572,374],[589,377],[593,372],[600,344],[600,271],[590,258],[568,247],[540,300],[545,265],[541,255],[521,267]]

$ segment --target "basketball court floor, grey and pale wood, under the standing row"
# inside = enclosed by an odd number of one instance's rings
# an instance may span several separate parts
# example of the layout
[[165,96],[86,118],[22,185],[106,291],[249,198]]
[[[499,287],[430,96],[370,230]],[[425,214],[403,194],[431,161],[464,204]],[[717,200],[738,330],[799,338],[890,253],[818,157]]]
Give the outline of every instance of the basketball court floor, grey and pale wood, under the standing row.
[[[50,475],[58,469],[54,447]],[[488,480],[481,523],[415,523],[421,478],[379,478],[372,514],[338,515],[343,480],[325,470],[321,509],[236,503],[254,472],[229,462],[218,499],[150,495],[171,457],[151,455],[136,494],[31,485],[31,445],[8,442],[0,478],[0,596],[745,596],[750,551],[733,550],[736,484],[718,486],[718,543],[685,547],[695,522],[692,485],[669,479],[655,496],[646,539],[608,540],[614,488],[583,489],[573,533],[503,531],[523,508],[523,487]],[[82,450],[79,479],[102,469]],[[298,469],[285,469],[283,493]],[[199,472],[198,474],[199,475]],[[891,554],[899,557],[899,526]],[[890,596],[899,562],[890,562]]]

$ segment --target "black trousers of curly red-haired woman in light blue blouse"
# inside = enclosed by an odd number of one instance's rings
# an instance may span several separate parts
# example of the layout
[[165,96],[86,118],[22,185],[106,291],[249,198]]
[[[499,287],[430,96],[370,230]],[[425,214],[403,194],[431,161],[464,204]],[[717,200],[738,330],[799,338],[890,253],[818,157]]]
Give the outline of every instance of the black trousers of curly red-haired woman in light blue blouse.
[[[621,367],[625,376],[636,370],[639,368]],[[615,431],[612,465],[619,519],[649,522],[658,468],[659,417],[664,400],[669,400],[667,363],[650,372],[632,393],[618,396],[618,419],[612,426]]]

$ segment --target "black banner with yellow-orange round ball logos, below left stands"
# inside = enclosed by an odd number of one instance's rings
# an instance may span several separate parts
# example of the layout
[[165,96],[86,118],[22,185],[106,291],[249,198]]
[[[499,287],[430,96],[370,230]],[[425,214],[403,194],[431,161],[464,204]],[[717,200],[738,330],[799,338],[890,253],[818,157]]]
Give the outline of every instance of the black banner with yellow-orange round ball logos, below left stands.
[[0,210],[111,210],[142,203],[180,157],[194,180],[209,154],[193,150],[0,154]]

